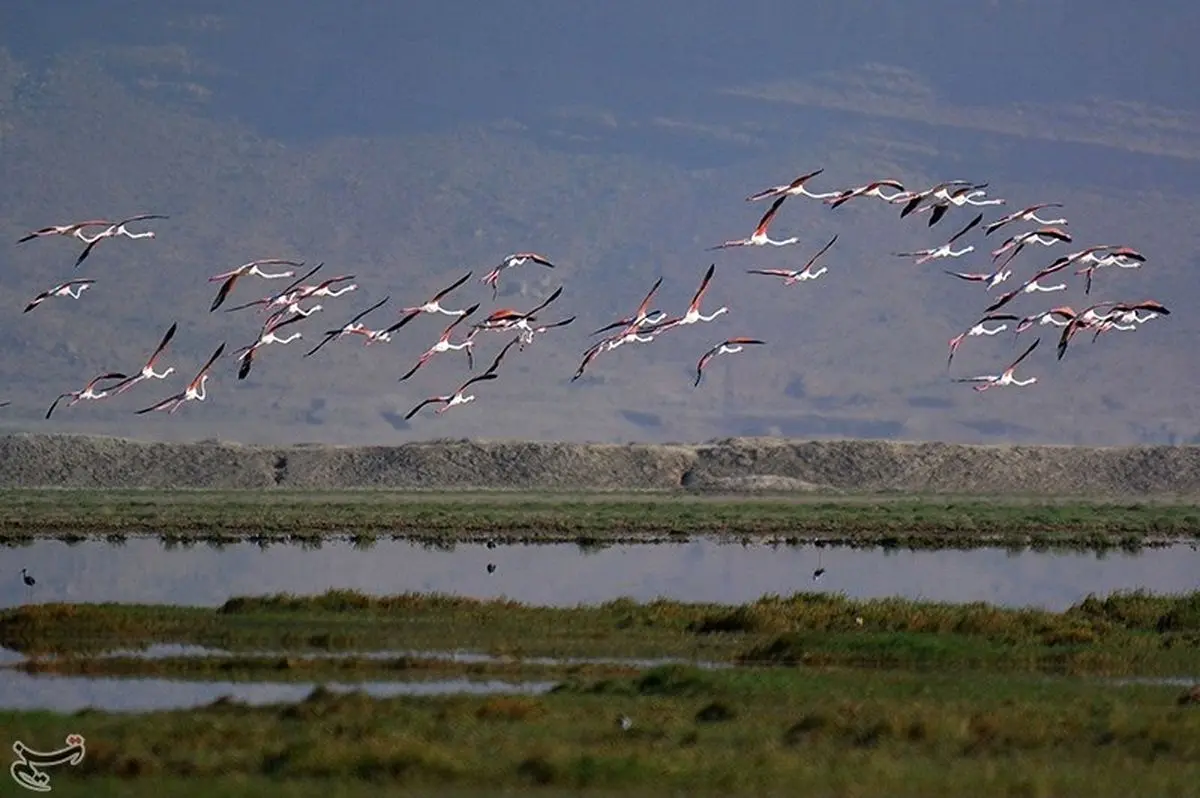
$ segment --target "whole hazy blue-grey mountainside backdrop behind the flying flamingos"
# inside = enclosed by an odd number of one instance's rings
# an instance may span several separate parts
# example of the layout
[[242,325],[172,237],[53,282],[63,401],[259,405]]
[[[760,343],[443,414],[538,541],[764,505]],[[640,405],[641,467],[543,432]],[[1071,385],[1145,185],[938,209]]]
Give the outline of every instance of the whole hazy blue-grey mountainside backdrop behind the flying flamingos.
[[[150,241],[112,241],[76,271],[65,239],[4,247],[0,425],[139,438],[403,443],[431,438],[700,440],[870,437],[986,443],[1200,440],[1194,388],[1200,236],[1200,108],[1192,36],[1200,7],[1118,2],[517,1],[340,2],[10,0],[0,8],[0,235],[161,212]],[[709,253],[748,235],[754,191],[817,168],[814,188],[878,178],[914,190],[989,182],[1002,209],[1061,202],[1072,244],[1031,247],[1022,280],[1090,244],[1147,256],[1108,269],[1085,296],[1022,296],[1014,311],[1157,299],[1174,311],[1134,332],[1091,336],[1055,360],[1043,337],[1022,374],[976,394],[952,376],[998,373],[1010,335],[947,341],[988,304],[943,268],[986,270],[1016,227],[977,252],[920,266],[893,252],[935,246],[973,215],[924,217],[860,199],[838,210],[791,198],[772,229],[793,247]],[[820,182],[820,185],[817,185]],[[817,281],[782,288],[750,268],[803,265],[834,234]],[[496,302],[478,278],[509,252],[558,268],[505,274]],[[325,262],[360,288],[295,325],[239,382],[232,360],[209,400],[134,415],[178,390],[221,341],[251,343],[260,316],[209,313],[208,276],[254,258]],[[588,332],[656,305],[682,312],[709,263],[712,324],[622,347],[570,383]],[[376,325],[473,270],[450,307],[527,308],[558,286],[545,320],[568,328],[514,353],[479,401],[402,416],[469,372],[438,355],[398,383],[445,317],[389,344],[320,332],[385,295]],[[38,292],[97,283],[78,301]],[[1013,283],[1010,283],[1013,284]],[[230,304],[271,293],[245,280]],[[1006,286],[1008,287],[1008,286]],[[995,293],[1000,293],[996,289]],[[115,400],[43,415],[103,371],[140,367],[179,322],[164,365],[179,373]],[[748,335],[767,347],[695,364]],[[481,336],[485,364],[506,336]],[[308,346],[304,346],[307,343]],[[476,364],[476,372],[481,366]]]

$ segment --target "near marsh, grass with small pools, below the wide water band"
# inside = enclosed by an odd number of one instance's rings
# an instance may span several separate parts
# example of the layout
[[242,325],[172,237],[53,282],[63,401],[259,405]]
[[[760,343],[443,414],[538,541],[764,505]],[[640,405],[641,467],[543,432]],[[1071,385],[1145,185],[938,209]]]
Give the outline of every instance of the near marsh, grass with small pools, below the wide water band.
[[[814,593],[36,605],[0,616],[0,641],[26,655],[0,685],[125,679],[162,697],[0,709],[0,726],[85,736],[86,758],[55,774],[66,794],[790,794],[803,779],[816,794],[1182,796],[1200,776],[1200,707],[1177,684],[1198,676],[1198,637],[1200,593],[1061,612]],[[431,648],[400,654],[401,640]],[[683,661],[630,659],[668,653]]]

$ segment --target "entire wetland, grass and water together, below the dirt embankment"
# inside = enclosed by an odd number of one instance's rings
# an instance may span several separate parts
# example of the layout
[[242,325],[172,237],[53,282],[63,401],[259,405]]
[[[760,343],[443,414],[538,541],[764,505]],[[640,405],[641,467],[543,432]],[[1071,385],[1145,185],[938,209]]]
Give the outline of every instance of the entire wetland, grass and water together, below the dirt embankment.
[[86,738],[66,796],[1195,794],[1198,532],[1180,499],[0,491],[37,576],[0,586],[0,728]]

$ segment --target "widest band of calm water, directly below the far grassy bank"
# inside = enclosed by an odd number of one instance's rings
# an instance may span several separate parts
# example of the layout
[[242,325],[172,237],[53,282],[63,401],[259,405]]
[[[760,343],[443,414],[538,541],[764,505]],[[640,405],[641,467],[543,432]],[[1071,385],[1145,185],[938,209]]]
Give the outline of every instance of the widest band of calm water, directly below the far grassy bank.
[[[763,594],[829,590],[852,598],[905,596],[1066,608],[1088,593],[1200,589],[1200,552],[1187,544],[1140,553],[817,548],[697,539],[583,550],[574,544],[451,550],[402,540],[370,548],[234,544],[166,547],[154,538],[122,546],[40,540],[0,551],[0,606],[120,601],[216,606],[230,596],[439,592],[569,606],[628,596],[740,604]],[[496,565],[488,574],[488,563]],[[37,584],[26,588],[20,569]],[[824,568],[821,581],[812,572]]]

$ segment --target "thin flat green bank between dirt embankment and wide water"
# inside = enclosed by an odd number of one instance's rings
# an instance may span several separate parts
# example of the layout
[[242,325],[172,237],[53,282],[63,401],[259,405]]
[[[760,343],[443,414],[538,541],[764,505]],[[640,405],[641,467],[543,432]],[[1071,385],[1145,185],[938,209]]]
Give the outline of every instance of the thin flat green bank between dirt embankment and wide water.
[[260,542],[323,534],[547,542],[730,534],[907,546],[1110,547],[1200,536],[1200,506],[1016,497],[0,491],[0,541],[138,533]]

